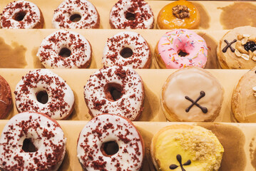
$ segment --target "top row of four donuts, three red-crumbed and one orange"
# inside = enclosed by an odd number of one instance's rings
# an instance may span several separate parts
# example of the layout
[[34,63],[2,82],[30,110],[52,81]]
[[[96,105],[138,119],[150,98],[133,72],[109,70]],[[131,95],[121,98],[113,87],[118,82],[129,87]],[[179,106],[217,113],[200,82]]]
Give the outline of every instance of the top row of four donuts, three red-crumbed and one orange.
[[[118,0],[109,14],[111,28],[154,27],[154,15],[143,0]],[[44,19],[36,4],[13,1],[1,13],[1,28],[43,28]],[[200,14],[189,1],[176,1],[163,7],[158,14],[158,28],[198,28]],[[99,28],[100,16],[90,1],[64,0],[54,10],[53,28]]]

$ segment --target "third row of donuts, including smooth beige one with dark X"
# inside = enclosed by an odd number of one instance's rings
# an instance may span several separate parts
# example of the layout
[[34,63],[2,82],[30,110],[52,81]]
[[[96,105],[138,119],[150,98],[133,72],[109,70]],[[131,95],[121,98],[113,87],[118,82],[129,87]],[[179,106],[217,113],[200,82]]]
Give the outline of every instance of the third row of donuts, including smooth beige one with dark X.
[[[256,103],[255,71],[256,68],[240,78],[232,95],[232,113],[241,123],[256,122],[255,108],[250,105]],[[3,109],[1,118],[4,118],[12,101],[8,84],[4,78],[1,80],[0,107]],[[172,73],[163,84],[160,105],[170,121],[213,122],[220,116],[223,93],[219,81],[208,71],[198,67],[183,68]],[[41,112],[56,120],[68,118],[76,104],[71,88],[48,69],[27,73],[16,85],[14,94],[19,113]],[[113,113],[139,120],[145,95],[138,73],[126,67],[101,68],[83,87],[83,97],[92,117]]]

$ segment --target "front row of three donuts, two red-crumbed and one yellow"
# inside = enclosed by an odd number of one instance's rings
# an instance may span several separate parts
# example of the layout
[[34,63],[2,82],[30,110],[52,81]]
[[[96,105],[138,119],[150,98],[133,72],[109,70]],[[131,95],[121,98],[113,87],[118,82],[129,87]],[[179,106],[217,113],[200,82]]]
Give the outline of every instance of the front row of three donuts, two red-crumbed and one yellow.
[[[19,113],[2,130],[0,169],[58,170],[66,142],[61,126],[47,115]],[[83,170],[138,171],[145,155],[143,138],[133,123],[113,114],[88,121],[78,136],[76,150]],[[211,130],[184,124],[162,128],[150,146],[155,168],[166,171],[177,167],[218,170],[224,150]]]

